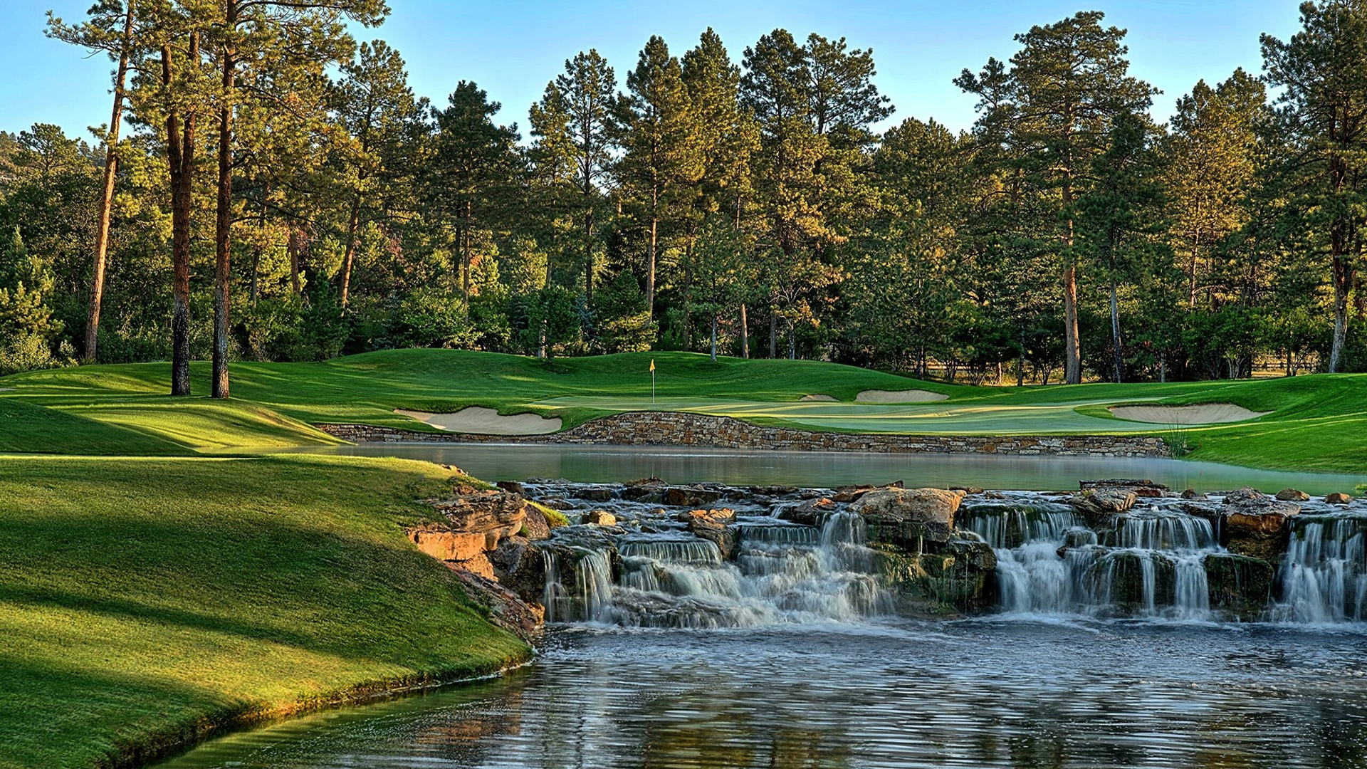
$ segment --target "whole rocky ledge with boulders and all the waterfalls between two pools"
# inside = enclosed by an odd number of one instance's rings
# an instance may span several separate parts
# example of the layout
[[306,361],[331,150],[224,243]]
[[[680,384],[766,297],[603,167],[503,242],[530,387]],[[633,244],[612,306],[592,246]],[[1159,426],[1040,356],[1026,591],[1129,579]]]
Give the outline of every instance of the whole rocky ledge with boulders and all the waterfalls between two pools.
[[433,499],[409,536],[500,623],[768,627],[872,616],[1342,623],[1367,613],[1367,505],[1342,494],[586,484]]

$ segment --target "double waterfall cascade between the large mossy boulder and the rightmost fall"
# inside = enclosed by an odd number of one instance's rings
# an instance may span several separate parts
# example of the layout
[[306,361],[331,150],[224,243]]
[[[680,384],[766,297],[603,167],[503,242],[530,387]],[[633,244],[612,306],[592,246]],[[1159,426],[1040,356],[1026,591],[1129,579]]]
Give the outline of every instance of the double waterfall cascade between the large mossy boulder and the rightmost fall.
[[1068,505],[1021,501],[966,509],[960,525],[997,551],[1007,613],[1210,617],[1211,523],[1180,510],[1131,510],[1092,531]]

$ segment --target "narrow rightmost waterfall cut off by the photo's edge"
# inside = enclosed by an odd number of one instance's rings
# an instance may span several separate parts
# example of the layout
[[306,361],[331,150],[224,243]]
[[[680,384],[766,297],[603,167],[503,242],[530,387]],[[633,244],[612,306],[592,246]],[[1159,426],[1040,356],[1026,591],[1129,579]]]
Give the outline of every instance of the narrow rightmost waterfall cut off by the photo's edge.
[[1303,514],[1292,519],[1280,569],[1281,597],[1271,620],[1344,623],[1367,618],[1367,516]]

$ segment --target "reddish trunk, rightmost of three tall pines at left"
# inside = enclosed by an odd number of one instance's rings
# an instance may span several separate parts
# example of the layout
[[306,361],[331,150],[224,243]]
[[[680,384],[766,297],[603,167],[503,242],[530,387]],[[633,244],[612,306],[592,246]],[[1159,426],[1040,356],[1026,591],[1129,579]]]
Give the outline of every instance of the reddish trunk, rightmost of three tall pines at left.
[[[238,0],[227,0],[226,27],[231,33],[238,25]],[[223,104],[219,105],[219,211],[215,237],[213,272],[213,398],[228,397],[228,322],[232,297],[228,285],[232,275],[232,92],[235,88],[234,51],[223,49]]]

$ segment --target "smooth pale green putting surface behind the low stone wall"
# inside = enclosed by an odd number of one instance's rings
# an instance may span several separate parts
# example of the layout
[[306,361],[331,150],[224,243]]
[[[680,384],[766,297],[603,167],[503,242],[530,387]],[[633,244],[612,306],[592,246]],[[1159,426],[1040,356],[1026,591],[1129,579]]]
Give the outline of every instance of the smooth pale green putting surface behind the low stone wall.
[[[1129,398],[1135,402],[1135,398]],[[921,435],[1152,432],[1162,426],[1079,413],[1077,406],[1113,400],[1053,404],[849,404],[830,401],[763,402],[722,398],[614,398],[570,395],[536,401],[540,408],[592,408],[612,412],[662,410],[731,416],[752,421],[785,420],[842,432],[909,432]]]

